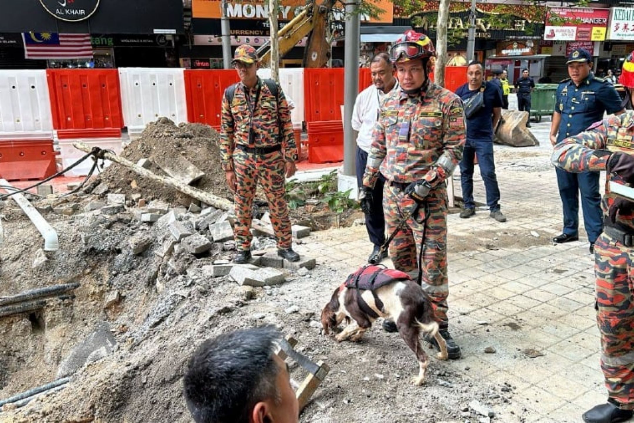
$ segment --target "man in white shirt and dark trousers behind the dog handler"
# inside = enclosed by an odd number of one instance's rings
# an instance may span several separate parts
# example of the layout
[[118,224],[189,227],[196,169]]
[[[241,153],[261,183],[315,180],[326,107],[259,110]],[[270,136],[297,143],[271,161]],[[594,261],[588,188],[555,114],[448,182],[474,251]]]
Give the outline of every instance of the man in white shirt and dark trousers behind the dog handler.
[[[394,77],[394,66],[387,53],[378,53],[370,62],[372,85],[357,96],[353,109],[353,129],[356,131],[356,176],[359,190],[363,186],[363,173],[368,161],[368,152],[372,145],[372,132],[377,122],[380,105],[385,94],[398,87]],[[368,263],[380,263],[387,257],[387,251],[380,252],[385,243],[385,218],[383,214],[383,185],[385,178],[380,175],[372,190],[372,208],[365,213],[365,225],[374,249]]]

